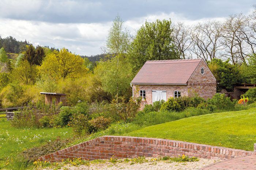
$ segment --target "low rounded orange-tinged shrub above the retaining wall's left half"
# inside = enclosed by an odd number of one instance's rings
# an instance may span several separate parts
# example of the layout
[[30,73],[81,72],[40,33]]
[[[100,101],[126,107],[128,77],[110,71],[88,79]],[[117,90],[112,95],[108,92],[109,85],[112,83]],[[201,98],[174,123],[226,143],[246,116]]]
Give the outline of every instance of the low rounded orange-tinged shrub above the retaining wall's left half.
[[111,120],[109,118],[104,118],[103,116],[99,116],[95,119],[91,119],[89,122],[90,122],[90,132],[96,132],[99,130],[106,129],[110,125]]

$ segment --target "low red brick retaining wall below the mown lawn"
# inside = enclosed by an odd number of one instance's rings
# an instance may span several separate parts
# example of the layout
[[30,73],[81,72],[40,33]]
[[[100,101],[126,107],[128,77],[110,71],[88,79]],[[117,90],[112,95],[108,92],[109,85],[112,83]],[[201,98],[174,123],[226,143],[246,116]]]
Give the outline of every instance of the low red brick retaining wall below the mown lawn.
[[231,159],[252,155],[255,152],[167,139],[103,136],[45,155],[39,159],[56,162],[67,158],[109,159],[113,155],[115,158],[134,158],[140,156],[177,157],[183,154],[208,159]]

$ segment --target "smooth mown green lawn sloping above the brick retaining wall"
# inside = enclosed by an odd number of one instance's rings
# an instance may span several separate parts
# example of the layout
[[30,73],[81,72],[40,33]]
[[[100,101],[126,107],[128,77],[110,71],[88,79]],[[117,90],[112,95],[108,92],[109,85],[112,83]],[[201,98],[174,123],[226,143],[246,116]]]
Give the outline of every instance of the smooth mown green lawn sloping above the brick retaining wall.
[[193,116],[145,127],[126,134],[253,150],[256,108]]

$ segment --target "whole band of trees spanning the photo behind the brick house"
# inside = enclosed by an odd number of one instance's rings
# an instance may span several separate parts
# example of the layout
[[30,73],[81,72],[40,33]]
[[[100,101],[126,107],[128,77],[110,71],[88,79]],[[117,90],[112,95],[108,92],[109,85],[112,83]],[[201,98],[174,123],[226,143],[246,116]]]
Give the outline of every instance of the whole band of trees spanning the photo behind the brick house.
[[[207,21],[193,27],[173,24],[170,19],[146,21],[131,36],[121,17],[116,16],[103,54],[92,58],[82,58],[65,48],[27,45],[13,60],[6,58],[1,48],[0,65],[8,68],[0,73],[1,106],[36,103],[43,100],[40,91],[65,93],[69,105],[78,100],[129,101],[130,82],[147,60],[203,58],[217,78],[218,91],[232,91],[238,83],[256,83],[255,32],[248,25],[235,29],[240,18],[249,24],[255,22],[253,14],[232,15],[223,23]],[[232,24],[227,24],[230,20]]]

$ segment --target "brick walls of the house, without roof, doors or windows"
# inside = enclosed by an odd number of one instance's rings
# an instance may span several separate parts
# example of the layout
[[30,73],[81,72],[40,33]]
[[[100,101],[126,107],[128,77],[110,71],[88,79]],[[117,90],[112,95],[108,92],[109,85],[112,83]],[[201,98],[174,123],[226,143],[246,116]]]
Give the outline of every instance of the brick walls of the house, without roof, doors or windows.
[[[201,68],[204,68],[204,74],[201,74]],[[202,60],[196,70],[189,78],[187,85],[133,85],[133,96],[139,96],[139,90],[146,91],[146,100],[141,104],[140,109],[145,104],[152,104],[152,91],[166,91],[166,99],[173,97],[173,91],[181,91],[181,96],[189,95],[189,92],[196,92],[204,99],[211,98],[216,93],[216,79],[212,75],[206,63]]]

